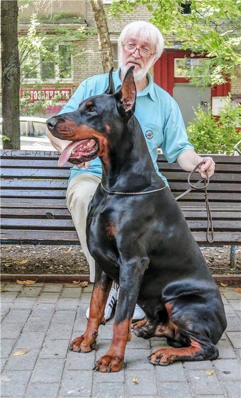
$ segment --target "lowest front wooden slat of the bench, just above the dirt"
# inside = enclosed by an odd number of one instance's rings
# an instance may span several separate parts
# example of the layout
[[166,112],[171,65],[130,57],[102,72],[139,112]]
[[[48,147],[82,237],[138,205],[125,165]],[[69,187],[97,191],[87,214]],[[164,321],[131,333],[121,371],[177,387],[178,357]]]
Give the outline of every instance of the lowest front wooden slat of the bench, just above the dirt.
[[[30,229],[2,229],[1,242],[16,244],[80,244],[76,231],[41,231]],[[206,232],[193,232],[195,240],[199,244],[207,244]],[[240,232],[216,232],[214,236],[213,246],[217,244],[241,244]]]

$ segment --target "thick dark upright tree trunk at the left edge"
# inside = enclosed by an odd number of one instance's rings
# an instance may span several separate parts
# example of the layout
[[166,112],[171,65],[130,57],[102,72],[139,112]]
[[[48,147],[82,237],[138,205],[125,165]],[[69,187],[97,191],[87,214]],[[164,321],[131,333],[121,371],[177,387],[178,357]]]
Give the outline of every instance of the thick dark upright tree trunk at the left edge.
[[[20,149],[20,66],[16,0],[1,1],[1,84],[3,149]],[[4,140],[4,136],[7,137]]]

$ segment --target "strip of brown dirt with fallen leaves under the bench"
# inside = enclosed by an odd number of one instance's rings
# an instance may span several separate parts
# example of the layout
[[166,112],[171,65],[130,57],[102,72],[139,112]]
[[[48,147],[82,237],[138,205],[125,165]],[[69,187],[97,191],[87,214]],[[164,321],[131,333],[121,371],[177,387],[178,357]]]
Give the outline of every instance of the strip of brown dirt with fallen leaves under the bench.
[[[230,265],[230,246],[201,247],[212,274],[240,274],[241,247],[236,248],[236,266]],[[2,274],[88,274],[88,264],[79,246],[10,245],[1,247]]]

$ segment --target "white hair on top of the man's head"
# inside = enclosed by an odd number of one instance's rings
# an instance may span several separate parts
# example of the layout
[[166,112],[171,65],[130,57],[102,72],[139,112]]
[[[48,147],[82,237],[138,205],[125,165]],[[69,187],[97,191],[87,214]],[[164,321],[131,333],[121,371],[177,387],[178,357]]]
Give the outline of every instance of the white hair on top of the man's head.
[[144,40],[150,40],[150,43],[156,46],[156,58],[161,57],[164,48],[164,39],[160,30],[155,25],[146,21],[134,21],[128,23],[128,25],[126,25],[122,30],[118,39],[119,50],[122,47],[126,36],[130,34],[139,35]]

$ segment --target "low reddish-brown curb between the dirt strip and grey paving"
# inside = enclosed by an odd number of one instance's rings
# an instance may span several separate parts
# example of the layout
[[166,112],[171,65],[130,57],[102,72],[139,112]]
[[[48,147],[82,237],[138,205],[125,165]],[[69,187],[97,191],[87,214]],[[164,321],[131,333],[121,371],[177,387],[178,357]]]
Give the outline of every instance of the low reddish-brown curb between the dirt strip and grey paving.
[[[73,281],[89,282],[88,274],[1,274],[1,282],[16,282],[16,280],[31,280],[46,283],[72,283]],[[241,275],[213,275],[216,283],[235,283],[241,285]]]

